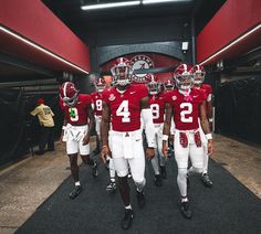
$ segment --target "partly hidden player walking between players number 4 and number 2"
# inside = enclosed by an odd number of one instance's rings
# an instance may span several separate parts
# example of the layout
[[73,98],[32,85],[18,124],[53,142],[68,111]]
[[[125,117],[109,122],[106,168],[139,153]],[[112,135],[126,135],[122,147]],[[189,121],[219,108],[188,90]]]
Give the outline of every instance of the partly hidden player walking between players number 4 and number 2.
[[163,180],[159,173],[159,167],[161,172],[164,171],[164,177],[166,178],[166,158],[163,155],[163,126],[165,116],[165,96],[161,92],[161,84],[159,79],[152,75],[148,81],[148,93],[149,93],[149,104],[153,111],[153,121],[156,131],[156,148],[155,157],[152,159],[152,164],[155,173],[155,185],[161,187]]

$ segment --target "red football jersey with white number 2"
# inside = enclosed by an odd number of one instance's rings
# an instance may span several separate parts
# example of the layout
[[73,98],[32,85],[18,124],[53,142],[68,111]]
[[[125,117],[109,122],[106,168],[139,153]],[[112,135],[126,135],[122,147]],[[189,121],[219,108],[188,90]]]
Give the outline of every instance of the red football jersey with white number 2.
[[191,88],[188,96],[177,88],[166,94],[166,98],[174,108],[174,121],[178,130],[194,130],[199,128],[199,105],[206,100],[202,92]]

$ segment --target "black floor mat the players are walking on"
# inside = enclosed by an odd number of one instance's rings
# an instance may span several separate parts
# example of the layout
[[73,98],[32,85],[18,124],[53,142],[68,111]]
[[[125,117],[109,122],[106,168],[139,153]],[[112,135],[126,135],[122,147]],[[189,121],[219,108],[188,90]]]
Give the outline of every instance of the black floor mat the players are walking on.
[[87,167],[81,167],[83,192],[73,201],[71,178],[35,211],[17,233],[85,233],[85,234],[247,234],[261,233],[261,200],[234,179],[222,167],[210,160],[213,187],[203,187],[199,177],[190,179],[189,195],[194,210],[191,220],[179,212],[179,192],[176,182],[176,163],[168,161],[168,178],[164,185],[154,185],[152,166],[146,167],[146,208],[139,210],[132,184],[133,226],[121,228],[124,208],[118,192],[107,193],[108,172],[100,167],[98,178],[91,176]]

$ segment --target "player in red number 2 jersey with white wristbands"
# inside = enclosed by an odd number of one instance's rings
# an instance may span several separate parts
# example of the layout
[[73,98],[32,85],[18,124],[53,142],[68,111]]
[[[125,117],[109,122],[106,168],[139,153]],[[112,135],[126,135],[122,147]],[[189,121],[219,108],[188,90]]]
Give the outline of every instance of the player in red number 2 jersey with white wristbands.
[[163,152],[167,155],[167,140],[170,129],[170,119],[174,115],[175,130],[175,159],[178,166],[177,183],[181,196],[180,211],[185,217],[191,219],[192,212],[187,196],[187,168],[190,157],[192,170],[190,172],[202,173],[203,147],[200,137],[199,121],[208,139],[208,153],[212,153],[212,136],[206,116],[206,97],[192,88],[194,75],[190,66],[181,64],[176,70],[177,89],[169,92],[166,106],[166,120],[164,124]]

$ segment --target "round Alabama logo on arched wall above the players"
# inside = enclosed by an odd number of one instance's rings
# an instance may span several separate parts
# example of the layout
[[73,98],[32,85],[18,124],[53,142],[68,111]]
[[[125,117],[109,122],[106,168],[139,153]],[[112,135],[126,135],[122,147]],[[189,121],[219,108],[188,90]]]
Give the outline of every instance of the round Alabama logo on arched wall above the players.
[[[143,54],[134,56],[130,60],[130,63],[134,70],[147,70],[154,67],[154,62],[150,60],[150,57]],[[149,77],[149,74],[134,74],[134,79],[140,83],[146,82],[146,79]]]

